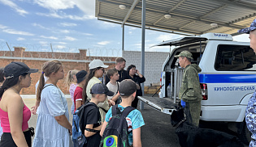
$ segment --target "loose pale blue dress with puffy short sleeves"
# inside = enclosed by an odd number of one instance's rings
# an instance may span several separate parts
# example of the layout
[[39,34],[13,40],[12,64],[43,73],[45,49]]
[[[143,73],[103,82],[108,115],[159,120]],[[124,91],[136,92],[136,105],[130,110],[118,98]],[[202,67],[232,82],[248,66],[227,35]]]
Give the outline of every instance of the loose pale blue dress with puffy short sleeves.
[[33,146],[68,147],[70,136],[68,129],[61,126],[54,116],[66,115],[69,119],[67,99],[58,87],[46,84],[41,91],[41,102],[37,108],[37,128]]

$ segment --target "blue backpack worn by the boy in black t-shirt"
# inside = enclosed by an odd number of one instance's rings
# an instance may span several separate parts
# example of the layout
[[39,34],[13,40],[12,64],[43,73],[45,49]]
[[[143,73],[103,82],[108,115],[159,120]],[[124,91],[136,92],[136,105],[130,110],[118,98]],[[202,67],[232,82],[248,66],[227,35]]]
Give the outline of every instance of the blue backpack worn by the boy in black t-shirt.
[[85,135],[82,133],[82,131],[80,129],[80,117],[83,117],[83,115],[80,115],[79,112],[84,111],[85,107],[88,107],[90,105],[93,105],[93,104],[87,103],[87,104],[79,107],[73,114],[72,141],[73,141],[74,147],[83,147],[87,143]]

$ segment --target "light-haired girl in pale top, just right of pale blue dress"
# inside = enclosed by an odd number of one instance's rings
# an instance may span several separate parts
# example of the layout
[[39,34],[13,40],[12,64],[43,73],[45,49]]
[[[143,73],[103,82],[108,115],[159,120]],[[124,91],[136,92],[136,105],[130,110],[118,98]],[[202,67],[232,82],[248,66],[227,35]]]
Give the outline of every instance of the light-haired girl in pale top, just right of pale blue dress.
[[67,78],[66,78],[66,84],[69,87],[69,94],[72,98],[72,107],[71,107],[72,114],[74,114],[74,110],[75,110],[74,92],[75,92],[76,86],[77,86],[76,73],[78,73],[78,72],[79,72],[79,70],[77,70],[77,69],[69,70],[67,72]]

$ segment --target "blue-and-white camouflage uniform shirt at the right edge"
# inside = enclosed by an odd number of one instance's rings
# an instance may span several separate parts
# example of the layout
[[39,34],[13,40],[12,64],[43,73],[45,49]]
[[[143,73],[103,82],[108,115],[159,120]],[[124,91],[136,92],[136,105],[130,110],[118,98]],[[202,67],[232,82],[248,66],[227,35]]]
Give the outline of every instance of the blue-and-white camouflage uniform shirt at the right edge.
[[249,99],[246,111],[245,111],[245,122],[249,132],[252,132],[251,138],[253,139],[249,143],[250,146],[256,145],[256,90],[253,96]]

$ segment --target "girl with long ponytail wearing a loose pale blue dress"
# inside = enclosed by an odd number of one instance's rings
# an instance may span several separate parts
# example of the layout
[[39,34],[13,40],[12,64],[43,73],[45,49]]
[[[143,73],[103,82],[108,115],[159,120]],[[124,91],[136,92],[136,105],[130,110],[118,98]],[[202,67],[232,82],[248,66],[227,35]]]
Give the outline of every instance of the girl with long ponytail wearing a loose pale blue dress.
[[[48,80],[44,81],[44,74]],[[33,146],[62,146],[72,144],[72,124],[69,123],[67,99],[57,86],[64,78],[60,61],[47,61],[42,66],[40,82],[37,88],[37,128]]]

